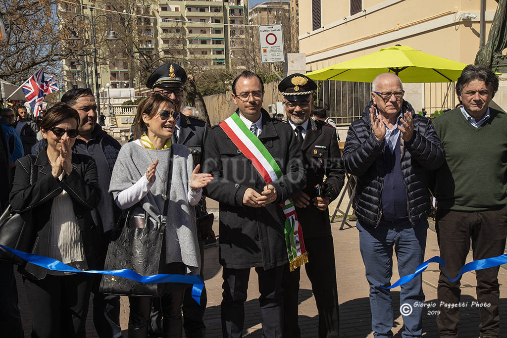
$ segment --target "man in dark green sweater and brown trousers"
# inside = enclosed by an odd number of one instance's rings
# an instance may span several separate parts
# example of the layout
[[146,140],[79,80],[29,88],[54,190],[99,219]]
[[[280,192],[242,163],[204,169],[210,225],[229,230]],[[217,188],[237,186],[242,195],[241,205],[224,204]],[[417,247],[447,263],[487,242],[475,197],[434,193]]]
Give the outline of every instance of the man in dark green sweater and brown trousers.
[[[436,230],[440,256],[456,277],[470,249],[474,260],[503,254],[507,234],[507,115],[490,108],[498,78],[468,65],[456,83],[462,107],[434,120],[446,162],[436,175]],[[481,337],[498,337],[498,268],[477,270]],[[460,282],[440,268],[437,325],[441,337],[458,335]]]

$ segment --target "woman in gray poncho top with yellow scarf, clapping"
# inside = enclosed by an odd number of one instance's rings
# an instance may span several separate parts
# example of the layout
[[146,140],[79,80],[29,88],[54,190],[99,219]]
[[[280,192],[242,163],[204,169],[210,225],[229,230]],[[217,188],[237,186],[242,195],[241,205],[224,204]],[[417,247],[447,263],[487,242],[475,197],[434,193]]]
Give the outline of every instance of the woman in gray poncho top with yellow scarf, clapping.
[[[161,272],[199,274],[199,245],[194,208],[202,187],[213,178],[194,169],[190,150],[171,144],[179,117],[175,103],[160,94],[143,99],[137,107],[136,128],[141,135],[122,146],[111,177],[110,192],[121,209],[134,207],[133,215],[147,213],[160,223],[169,199]],[[169,170],[172,150],[172,170]],[[169,177],[169,172],[171,176]],[[154,257],[158,259],[159,257]],[[182,336],[184,284],[165,284],[161,297],[164,337]],[[129,296],[129,337],[147,337],[151,297]]]

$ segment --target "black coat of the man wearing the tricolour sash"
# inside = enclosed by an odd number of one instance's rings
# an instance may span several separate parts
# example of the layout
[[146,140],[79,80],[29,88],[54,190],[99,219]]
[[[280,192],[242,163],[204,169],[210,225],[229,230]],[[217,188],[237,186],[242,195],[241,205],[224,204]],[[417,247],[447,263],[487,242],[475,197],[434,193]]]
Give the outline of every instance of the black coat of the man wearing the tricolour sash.
[[220,202],[219,259],[231,269],[271,269],[288,262],[285,215],[279,204],[306,183],[303,155],[291,126],[273,120],[263,109],[259,139],[282,172],[271,183],[277,192],[276,201],[262,208],[243,205],[247,188],[261,193],[266,185],[251,161],[220,126],[212,127],[206,139],[203,172],[211,173],[214,179],[205,187],[205,193]]

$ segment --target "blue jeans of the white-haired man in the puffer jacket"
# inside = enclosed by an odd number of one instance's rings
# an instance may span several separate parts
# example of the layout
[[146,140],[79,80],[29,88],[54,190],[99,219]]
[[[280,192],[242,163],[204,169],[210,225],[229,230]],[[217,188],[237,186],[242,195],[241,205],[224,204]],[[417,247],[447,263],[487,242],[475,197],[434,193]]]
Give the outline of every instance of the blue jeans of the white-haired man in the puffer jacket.
[[[426,247],[427,219],[420,220],[415,227],[409,222],[387,224],[381,222],[377,228],[361,226],[359,248],[366,269],[366,279],[370,284],[370,308],[372,311],[372,330],[376,337],[392,337],[393,310],[391,291],[382,288],[391,285],[392,248],[398,260],[400,277],[413,274],[424,260]],[[400,305],[405,330],[402,337],[420,337],[422,334],[422,310],[424,293],[422,275],[403,284],[400,291]],[[416,306],[414,306],[416,304]],[[406,311],[406,312],[405,312]],[[407,313],[407,315],[404,315]]]

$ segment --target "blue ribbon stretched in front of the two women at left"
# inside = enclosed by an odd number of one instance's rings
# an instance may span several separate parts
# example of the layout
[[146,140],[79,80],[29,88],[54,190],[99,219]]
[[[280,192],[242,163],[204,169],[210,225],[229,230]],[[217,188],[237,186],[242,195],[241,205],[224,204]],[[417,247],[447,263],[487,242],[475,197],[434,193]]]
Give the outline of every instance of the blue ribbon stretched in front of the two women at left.
[[102,275],[112,275],[118,277],[124,277],[128,279],[135,280],[141,283],[186,283],[193,284],[192,287],[192,298],[195,299],[197,304],[201,305],[201,293],[204,288],[204,281],[201,276],[186,276],[186,275],[177,275],[177,274],[159,274],[152,276],[141,276],[138,273],[129,270],[87,270],[82,271],[76,268],[70,267],[66,264],[63,264],[61,261],[36,255],[33,253],[27,253],[23,251],[19,251],[16,249],[9,248],[0,244],[0,247],[15,254],[16,256],[30,262],[31,264],[37,265],[42,268],[46,268],[51,271],[61,271],[61,272],[75,272],[75,273],[85,273],[85,274],[102,274]]

